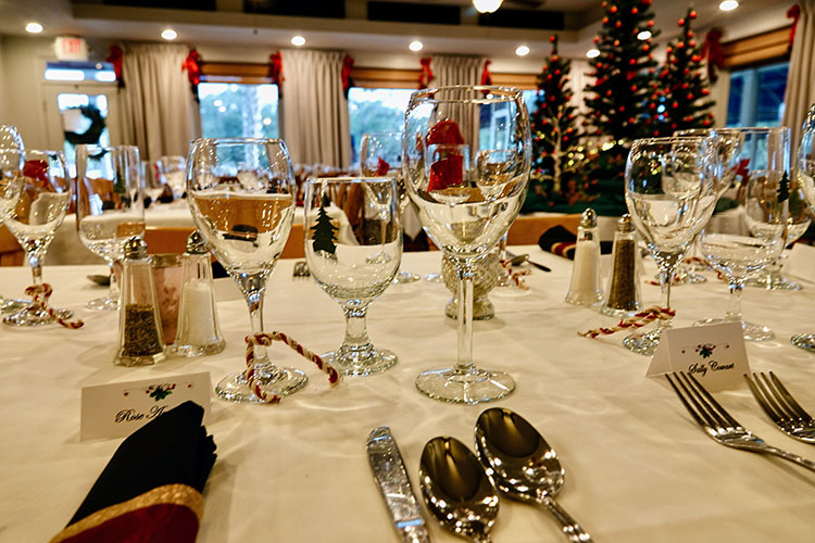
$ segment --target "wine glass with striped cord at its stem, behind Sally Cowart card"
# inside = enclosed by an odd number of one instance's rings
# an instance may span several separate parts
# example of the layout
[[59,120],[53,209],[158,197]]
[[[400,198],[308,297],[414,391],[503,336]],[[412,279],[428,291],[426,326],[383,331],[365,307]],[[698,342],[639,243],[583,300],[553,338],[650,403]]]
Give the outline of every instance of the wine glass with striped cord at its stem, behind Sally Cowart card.
[[[662,308],[670,308],[676,267],[711,213],[718,160],[711,138],[638,139],[628,153],[626,206],[660,268]],[[670,319],[659,319],[649,332],[629,336],[623,344],[651,355]]]

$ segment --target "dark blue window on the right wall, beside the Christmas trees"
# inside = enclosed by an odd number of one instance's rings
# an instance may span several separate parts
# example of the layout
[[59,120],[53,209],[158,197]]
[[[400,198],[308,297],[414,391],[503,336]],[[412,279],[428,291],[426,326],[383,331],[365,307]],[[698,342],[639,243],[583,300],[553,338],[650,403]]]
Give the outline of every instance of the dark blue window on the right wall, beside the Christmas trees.
[[789,62],[730,74],[727,126],[780,126]]

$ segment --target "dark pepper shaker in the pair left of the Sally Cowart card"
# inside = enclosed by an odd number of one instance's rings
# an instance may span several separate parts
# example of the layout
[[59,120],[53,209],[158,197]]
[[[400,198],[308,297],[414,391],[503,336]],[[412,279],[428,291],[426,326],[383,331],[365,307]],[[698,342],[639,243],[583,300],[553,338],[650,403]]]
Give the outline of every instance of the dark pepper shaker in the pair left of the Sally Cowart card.
[[639,255],[637,235],[629,214],[617,222],[612,249],[612,273],[609,293],[600,313],[614,317],[629,316],[640,308]]

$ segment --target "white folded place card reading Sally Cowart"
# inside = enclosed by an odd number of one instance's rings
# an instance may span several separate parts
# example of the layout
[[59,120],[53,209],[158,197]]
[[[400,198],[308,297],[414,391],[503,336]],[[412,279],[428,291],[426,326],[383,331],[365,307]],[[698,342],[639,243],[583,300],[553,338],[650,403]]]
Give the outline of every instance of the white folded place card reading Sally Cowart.
[[648,377],[685,371],[709,390],[743,383],[750,374],[739,323],[672,328],[662,332]]

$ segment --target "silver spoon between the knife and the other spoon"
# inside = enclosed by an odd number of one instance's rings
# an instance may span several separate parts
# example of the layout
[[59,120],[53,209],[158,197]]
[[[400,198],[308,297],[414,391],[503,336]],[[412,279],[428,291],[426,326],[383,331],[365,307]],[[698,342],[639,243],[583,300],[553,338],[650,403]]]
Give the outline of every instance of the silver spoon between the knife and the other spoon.
[[455,438],[434,438],[422,452],[418,479],[430,513],[442,527],[476,543],[490,543],[498,492],[489,468]]

